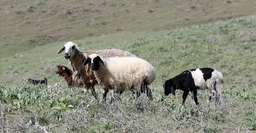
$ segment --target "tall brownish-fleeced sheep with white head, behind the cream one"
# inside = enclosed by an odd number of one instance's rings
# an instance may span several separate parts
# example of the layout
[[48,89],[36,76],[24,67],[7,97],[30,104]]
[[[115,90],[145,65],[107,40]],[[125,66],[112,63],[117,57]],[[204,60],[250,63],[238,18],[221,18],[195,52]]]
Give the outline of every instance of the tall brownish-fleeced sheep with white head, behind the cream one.
[[135,56],[128,51],[121,51],[118,49],[104,49],[104,50],[87,50],[80,51],[77,44],[72,41],[64,44],[62,48],[59,49],[57,53],[61,53],[65,50],[64,58],[69,60],[69,64],[73,70],[73,86],[74,87],[85,87],[84,94],[87,89],[91,88],[92,94],[97,99],[94,86],[98,84],[94,73],[87,66],[83,66],[84,60],[86,60],[87,55],[91,53],[97,53],[104,58],[108,57],[118,57],[118,56]]

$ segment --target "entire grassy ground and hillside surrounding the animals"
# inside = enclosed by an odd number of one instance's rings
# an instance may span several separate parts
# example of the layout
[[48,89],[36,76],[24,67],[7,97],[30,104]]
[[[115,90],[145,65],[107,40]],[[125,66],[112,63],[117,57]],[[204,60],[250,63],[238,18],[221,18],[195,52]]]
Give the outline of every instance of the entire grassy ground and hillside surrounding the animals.
[[[256,132],[256,16],[234,19],[255,14],[253,2],[91,2],[1,1],[1,133]],[[219,21],[205,24],[213,20]],[[118,48],[148,60],[158,73],[150,85],[153,101],[125,91],[109,104],[113,91],[105,103],[99,86],[98,100],[68,88],[55,73],[56,65],[70,68],[64,53],[57,54],[67,41],[81,51]],[[224,74],[221,104],[208,103],[207,91],[198,92],[200,106],[190,96],[181,106],[180,90],[164,95],[164,80],[198,67]],[[23,81],[43,77],[48,87]]]

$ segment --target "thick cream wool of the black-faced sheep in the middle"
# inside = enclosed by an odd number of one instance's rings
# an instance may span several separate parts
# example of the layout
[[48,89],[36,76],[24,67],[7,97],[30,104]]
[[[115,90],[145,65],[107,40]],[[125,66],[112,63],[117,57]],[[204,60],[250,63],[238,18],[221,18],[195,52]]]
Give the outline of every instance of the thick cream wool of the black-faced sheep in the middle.
[[[91,54],[88,57],[93,58],[97,54]],[[104,66],[101,64],[99,70],[94,71],[99,84],[104,87],[117,87],[120,90],[132,89],[133,85],[150,85],[155,80],[156,72],[148,61],[138,57],[110,57],[101,58]],[[144,85],[145,85],[144,84]]]

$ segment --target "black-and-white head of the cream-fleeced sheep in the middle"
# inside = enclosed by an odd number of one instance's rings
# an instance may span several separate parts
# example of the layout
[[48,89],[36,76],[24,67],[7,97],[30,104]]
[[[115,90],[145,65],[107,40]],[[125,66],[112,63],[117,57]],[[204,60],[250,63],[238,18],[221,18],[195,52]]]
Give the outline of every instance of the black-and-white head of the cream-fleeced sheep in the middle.
[[104,66],[104,62],[103,60],[101,59],[101,57],[98,55],[98,54],[90,54],[87,59],[84,61],[84,64],[83,65],[91,65],[91,70],[98,70],[99,67],[100,67],[100,64],[102,64]]

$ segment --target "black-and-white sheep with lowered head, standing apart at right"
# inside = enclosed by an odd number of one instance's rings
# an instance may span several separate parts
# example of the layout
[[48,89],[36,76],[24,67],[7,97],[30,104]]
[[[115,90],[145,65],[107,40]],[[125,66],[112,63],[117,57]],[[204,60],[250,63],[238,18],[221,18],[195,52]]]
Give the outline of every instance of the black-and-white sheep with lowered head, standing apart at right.
[[[182,105],[184,105],[189,91],[193,92],[194,102],[198,105],[197,89],[208,89],[212,96],[216,96],[216,87],[221,89],[221,83],[224,83],[222,76],[221,72],[212,68],[189,69],[173,78],[170,78],[169,80],[166,80],[163,88],[166,96],[170,93],[175,95],[176,89],[183,90]],[[209,97],[210,101],[212,100],[212,96]]]

